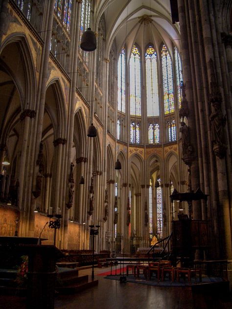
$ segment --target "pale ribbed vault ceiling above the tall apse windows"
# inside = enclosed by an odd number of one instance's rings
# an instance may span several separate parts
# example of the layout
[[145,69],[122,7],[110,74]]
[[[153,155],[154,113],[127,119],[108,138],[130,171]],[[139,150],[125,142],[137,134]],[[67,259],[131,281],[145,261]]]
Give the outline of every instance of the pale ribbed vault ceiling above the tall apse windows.
[[129,49],[135,42],[141,48],[153,43],[156,49],[174,42],[180,50],[179,25],[172,24],[170,0],[100,0],[96,11],[96,22],[105,15],[107,53],[114,39],[117,53],[124,42]]

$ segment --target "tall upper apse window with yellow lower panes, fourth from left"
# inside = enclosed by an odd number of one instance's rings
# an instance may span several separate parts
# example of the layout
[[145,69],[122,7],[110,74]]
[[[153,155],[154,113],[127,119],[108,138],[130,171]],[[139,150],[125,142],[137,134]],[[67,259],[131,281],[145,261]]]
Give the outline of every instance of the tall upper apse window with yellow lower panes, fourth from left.
[[162,57],[164,113],[168,114],[174,111],[174,93],[173,93],[172,62],[167,47],[165,45],[162,46],[161,57]]

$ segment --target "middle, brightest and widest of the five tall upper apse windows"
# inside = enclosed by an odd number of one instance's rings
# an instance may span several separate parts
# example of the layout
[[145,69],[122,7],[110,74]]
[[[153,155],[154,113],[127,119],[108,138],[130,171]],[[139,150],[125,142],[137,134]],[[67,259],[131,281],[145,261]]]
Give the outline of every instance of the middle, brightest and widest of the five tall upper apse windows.
[[157,54],[152,45],[145,53],[146,63],[146,93],[147,93],[147,116],[159,115],[159,93],[157,76]]

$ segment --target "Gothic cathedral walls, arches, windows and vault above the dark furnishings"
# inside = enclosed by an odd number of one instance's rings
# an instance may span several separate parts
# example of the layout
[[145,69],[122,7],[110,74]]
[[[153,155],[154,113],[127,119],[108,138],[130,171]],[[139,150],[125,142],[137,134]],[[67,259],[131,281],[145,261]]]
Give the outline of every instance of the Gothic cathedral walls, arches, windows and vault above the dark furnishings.
[[132,256],[207,222],[232,283],[231,31],[231,0],[0,1],[0,236]]

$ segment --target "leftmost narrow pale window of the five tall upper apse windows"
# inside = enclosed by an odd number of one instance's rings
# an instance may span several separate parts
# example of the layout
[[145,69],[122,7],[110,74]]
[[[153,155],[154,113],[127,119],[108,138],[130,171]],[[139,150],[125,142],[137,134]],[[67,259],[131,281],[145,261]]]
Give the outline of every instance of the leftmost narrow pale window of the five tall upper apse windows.
[[117,64],[117,109],[125,112],[125,48],[122,47]]

